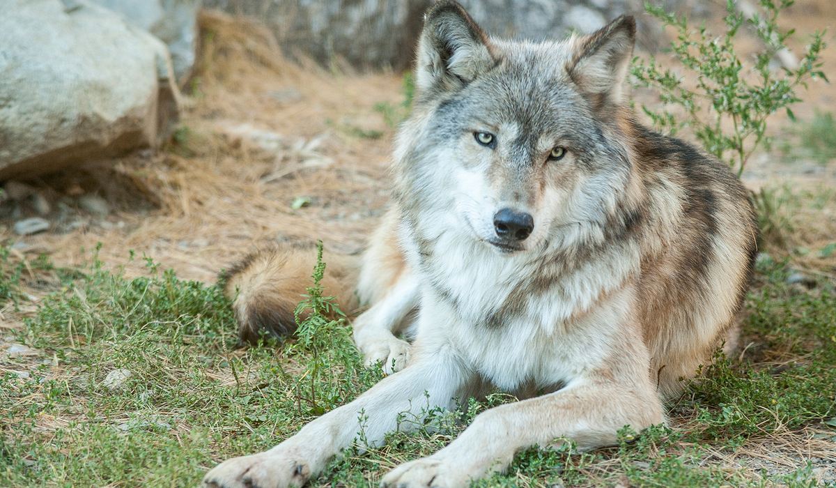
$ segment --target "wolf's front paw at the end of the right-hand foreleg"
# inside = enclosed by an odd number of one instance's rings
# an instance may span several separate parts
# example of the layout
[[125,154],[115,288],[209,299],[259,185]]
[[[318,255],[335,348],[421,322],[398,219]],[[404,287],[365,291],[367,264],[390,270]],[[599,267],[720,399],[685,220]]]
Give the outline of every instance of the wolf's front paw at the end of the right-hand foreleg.
[[431,457],[411,461],[391,470],[380,488],[459,488],[470,485],[471,476],[461,466]]

